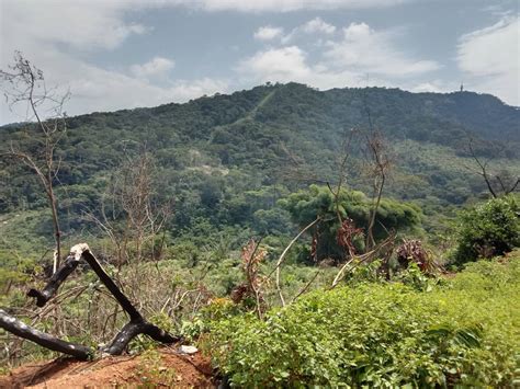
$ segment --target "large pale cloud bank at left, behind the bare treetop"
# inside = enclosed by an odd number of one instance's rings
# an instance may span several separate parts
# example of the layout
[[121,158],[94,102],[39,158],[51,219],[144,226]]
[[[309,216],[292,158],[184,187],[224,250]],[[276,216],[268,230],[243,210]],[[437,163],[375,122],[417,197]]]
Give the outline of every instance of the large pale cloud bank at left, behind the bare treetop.
[[[221,79],[150,83],[150,79],[166,77],[173,68],[174,61],[163,57],[134,65],[127,73],[123,68],[121,71],[108,70],[83,59],[100,50],[112,50],[132,35],[146,33],[147,27],[126,22],[124,16],[132,7],[149,4],[159,3],[140,0],[0,0],[0,69],[11,64],[14,50],[21,50],[44,70],[47,85],[70,90],[71,99],[65,106],[69,115],[155,106],[226,92],[228,82]],[[14,112],[7,104],[0,105],[0,124],[27,118],[22,105],[14,107]]]

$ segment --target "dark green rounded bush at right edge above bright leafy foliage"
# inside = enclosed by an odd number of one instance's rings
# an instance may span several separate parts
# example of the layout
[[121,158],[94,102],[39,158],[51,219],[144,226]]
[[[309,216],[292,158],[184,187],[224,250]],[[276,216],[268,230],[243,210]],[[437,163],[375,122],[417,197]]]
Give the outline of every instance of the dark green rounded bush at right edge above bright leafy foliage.
[[520,206],[515,196],[493,198],[460,215],[455,264],[502,255],[520,247]]

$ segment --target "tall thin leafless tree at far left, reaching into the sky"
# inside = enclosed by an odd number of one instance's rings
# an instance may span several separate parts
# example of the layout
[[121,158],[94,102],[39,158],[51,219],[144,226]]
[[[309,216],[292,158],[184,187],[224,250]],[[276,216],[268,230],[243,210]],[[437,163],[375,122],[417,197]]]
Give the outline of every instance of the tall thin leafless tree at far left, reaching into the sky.
[[[36,152],[23,150],[21,145],[11,144],[0,151],[4,159],[15,159],[29,167],[38,178],[47,197],[54,229],[55,253],[53,272],[59,267],[61,258],[61,231],[54,182],[57,179],[60,160],[55,151],[67,130],[66,113],[63,111],[69,93],[58,94],[56,89],[48,90],[43,71],[32,65],[20,52],[14,54],[14,62],[8,71],[0,70],[0,82],[12,110],[14,105],[25,104],[29,126],[36,126],[38,148]],[[49,117],[44,117],[46,112]]]

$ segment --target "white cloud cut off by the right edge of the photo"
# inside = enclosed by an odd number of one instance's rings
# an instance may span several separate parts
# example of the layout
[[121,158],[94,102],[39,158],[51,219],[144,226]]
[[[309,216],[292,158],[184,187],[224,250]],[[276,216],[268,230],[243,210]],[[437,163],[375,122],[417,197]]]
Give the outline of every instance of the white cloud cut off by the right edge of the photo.
[[498,23],[460,38],[456,61],[471,90],[499,95],[520,105],[520,20],[505,16]]

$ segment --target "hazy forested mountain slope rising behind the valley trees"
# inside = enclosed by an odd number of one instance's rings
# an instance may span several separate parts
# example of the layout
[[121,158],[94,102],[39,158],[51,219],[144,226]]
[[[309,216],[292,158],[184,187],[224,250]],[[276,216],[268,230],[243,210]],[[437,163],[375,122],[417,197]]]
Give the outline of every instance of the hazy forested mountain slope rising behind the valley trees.
[[[352,158],[346,184],[368,194],[365,135],[378,131],[392,150],[385,195],[412,201],[425,213],[460,205],[486,192],[468,153],[512,175],[520,167],[520,111],[473,92],[410,93],[398,89],[317,91],[297,83],[265,84],[185,104],[70,117],[56,156],[55,186],[65,228],[98,209],[118,167],[144,150],[152,155],[158,197],[173,202],[170,230],[286,229],[276,201],[309,184],[336,183],[341,145]],[[0,147],[37,155],[31,126],[0,128]],[[0,213],[38,209],[37,179],[13,160],[0,162]],[[504,171],[508,173],[504,173]],[[202,227],[201,227],[202,226]]]

